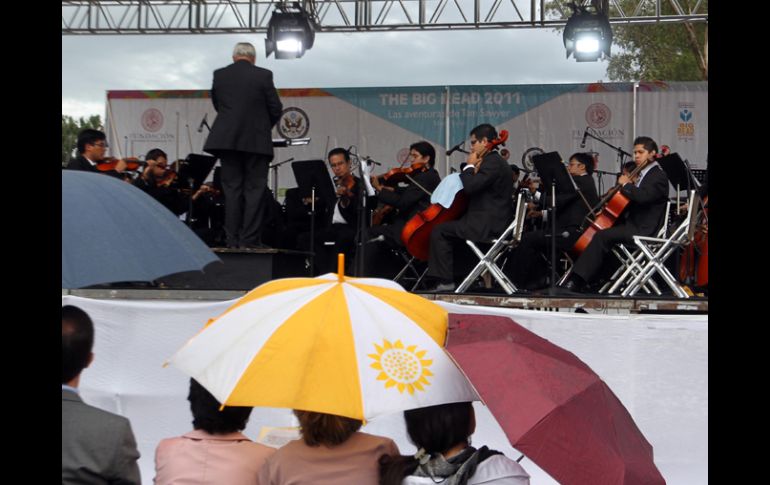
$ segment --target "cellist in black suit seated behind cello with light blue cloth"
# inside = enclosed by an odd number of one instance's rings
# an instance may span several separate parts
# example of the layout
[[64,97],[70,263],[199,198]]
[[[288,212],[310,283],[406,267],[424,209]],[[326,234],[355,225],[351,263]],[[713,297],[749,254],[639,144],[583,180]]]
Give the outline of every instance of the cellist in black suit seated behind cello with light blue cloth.
[[497,130],[481,124],[471,130],[471,153],[460,173],[463,190],[468,197],[468,210],[456,221],[436,226],[430,235],[428,283],[425,291],[453,291],[453,251],[455,240],[483,241],[501,234],[513,218],[511,196],[513,173],[497,150],[486,150],[488,143],[497,138]]

